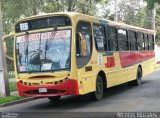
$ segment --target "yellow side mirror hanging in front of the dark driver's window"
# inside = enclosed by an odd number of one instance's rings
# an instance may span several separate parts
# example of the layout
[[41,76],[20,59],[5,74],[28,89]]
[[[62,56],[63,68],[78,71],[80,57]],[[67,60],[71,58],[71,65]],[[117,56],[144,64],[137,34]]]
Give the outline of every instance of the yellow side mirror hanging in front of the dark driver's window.
[[87,42],[86,42],[86,38],[84,35],[82,35],[82,33],[78,33],[79,35],[79,42],[80,42],[80,55],[86,56],[87,55]]

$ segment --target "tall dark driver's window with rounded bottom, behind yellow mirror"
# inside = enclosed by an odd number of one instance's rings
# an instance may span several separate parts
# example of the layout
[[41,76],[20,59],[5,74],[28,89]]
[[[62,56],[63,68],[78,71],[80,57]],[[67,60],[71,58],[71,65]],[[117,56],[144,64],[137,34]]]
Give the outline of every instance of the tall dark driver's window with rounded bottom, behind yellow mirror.
[[85,66],[91,56],[92,52],[92,31],[91,24],[80,21],[77,25],[76,32],[76,56],[77,66]]

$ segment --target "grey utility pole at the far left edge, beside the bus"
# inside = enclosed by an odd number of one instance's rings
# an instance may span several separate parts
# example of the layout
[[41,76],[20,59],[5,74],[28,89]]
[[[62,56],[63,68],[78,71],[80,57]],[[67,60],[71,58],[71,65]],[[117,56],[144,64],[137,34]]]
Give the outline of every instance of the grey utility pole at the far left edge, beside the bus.
[[8,82],[8,72],[7,63],[3,49],[2,41],[2,0],[0,0],[0,97],[9,96],[9,82]]

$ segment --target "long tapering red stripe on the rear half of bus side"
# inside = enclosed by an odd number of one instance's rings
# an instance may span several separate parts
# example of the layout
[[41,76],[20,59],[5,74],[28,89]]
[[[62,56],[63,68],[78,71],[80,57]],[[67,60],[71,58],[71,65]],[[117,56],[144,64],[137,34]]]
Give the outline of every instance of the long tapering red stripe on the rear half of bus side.
[[121,66],[127,67],[150,59],[155,56],[155,53],[154,51],[120,52],[119,55]]

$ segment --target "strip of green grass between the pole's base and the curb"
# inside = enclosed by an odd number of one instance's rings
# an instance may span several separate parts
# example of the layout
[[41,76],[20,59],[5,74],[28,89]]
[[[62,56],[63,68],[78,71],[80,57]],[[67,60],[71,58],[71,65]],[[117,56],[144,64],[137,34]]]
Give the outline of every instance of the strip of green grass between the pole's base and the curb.
[[23,97],[20,96],[7,96],[7,97],[0,97],[0,104],[8,103],[8,102],[13,102],[16,100],[20,100]]

